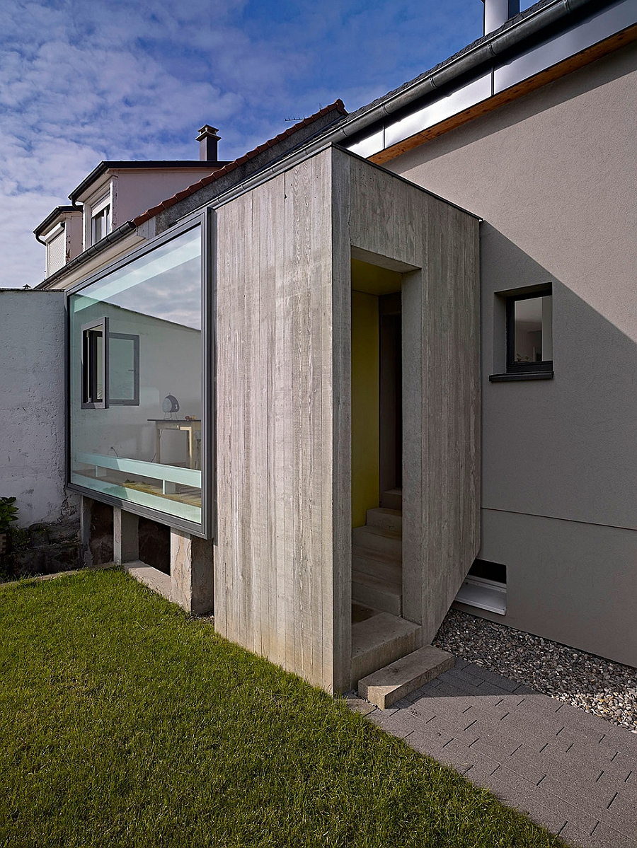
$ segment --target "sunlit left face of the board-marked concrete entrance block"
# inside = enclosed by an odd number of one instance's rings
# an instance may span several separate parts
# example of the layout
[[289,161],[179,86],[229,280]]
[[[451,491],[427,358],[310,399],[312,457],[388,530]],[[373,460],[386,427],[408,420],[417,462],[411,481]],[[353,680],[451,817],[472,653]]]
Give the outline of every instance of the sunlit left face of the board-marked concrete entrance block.
[[222,206],[215,232],[215,629],[342,689],[330,151]]

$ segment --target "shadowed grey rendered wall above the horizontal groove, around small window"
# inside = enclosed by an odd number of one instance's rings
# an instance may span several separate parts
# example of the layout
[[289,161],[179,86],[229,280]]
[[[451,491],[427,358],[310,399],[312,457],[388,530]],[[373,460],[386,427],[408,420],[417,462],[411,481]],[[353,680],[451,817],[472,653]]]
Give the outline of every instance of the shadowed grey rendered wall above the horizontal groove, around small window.
[[[637,530],[637,344],[494,227],[482,248],[483,508]],[[546,282],[555,377],[489,383],[505,360],[497,293]]]

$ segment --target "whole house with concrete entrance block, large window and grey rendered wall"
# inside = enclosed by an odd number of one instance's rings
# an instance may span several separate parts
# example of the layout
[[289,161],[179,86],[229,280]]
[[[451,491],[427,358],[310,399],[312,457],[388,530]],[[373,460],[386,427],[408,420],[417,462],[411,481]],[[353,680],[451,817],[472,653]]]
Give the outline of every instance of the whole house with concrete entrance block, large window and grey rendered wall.
[[454,601],[637,665],[637,0],[515,13],[42,283],[88,550],[328,690]]

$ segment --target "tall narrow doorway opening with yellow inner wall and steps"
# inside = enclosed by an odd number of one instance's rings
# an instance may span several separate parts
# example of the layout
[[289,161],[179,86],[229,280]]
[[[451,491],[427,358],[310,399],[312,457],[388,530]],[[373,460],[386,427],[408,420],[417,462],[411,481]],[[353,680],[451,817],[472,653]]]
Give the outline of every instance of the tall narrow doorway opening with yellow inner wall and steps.
[[401,283],[398,271],[352,259],[355,618],[402,612]]

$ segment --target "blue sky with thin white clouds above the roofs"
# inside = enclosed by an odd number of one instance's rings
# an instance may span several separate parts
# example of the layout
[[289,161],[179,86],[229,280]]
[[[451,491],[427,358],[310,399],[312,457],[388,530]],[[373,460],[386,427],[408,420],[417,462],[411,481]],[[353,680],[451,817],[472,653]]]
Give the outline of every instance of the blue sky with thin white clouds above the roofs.
[[[522,3],[522,8],[528,3]],[[481,0],[2,0],[0,287],[103,159],[234,159],[341,98],[350,112],[482,35]]]

